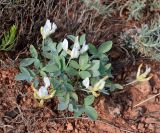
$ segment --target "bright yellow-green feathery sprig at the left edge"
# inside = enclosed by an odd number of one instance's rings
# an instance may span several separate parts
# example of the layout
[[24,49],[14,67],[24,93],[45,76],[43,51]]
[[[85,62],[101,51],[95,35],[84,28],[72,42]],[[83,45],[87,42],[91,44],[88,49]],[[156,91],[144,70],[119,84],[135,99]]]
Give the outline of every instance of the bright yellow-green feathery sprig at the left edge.
[[16,33],[17,33],[17,27],[16,25],[12,25],[10,30],[5,32],[3,35],[2,42],[0,44],[0,50],[10,51],[15,47],[14,42]]

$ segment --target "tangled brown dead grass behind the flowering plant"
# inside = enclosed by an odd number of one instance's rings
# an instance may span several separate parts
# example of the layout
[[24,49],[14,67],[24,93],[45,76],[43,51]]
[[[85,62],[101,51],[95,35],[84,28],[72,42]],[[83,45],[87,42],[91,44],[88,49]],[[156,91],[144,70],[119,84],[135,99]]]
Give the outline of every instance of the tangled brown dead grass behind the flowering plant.
[[41,38],[40,26],[44,25],[47,18],[58,25],[53,35],[55,40],[67,34],[86,33],[88,40],[95,44],[112,38],[109,36],[111,29],[119,21],[89,10],[80,0],[24,0],[17,3],[5,0],[0,2],[0,37],[15,23],[18,26],[16,50],[28,44],[38,44]]

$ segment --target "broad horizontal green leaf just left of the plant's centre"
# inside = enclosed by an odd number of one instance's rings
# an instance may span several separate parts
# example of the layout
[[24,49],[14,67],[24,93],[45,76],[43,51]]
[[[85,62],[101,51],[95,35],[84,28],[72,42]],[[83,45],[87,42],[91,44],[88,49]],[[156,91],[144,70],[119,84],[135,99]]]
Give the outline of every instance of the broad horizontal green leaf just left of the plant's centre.
[[42,71],[45,71],[45,72],[57,72],[57,71],[59,71],[59,68],[55,64],[48,64],[47,66],[42,68]]

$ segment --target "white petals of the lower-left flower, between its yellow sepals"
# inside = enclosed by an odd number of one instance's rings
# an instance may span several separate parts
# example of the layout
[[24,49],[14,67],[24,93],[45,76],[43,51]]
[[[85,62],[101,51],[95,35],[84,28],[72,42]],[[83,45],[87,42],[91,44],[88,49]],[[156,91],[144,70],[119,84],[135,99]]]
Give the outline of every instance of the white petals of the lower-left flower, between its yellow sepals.
[[40,89],[38,90],[38,96],[39,97],[45,97],[48,96],[48,87],[50,86],[50,80],[48,77],[43,78],[44,81],[44,86],[41,86]]

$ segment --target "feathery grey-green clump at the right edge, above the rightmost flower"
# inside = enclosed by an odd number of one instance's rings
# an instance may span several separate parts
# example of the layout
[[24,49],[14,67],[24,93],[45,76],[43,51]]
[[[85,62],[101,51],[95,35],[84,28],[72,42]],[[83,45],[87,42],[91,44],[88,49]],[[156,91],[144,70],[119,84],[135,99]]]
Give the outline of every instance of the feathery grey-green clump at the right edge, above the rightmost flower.
[[160,60],[160,22],[144,24],[141,28],[126,31],[122,39],[127,47],[155,60]]

